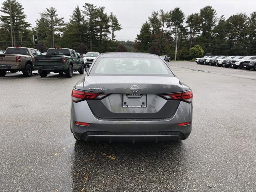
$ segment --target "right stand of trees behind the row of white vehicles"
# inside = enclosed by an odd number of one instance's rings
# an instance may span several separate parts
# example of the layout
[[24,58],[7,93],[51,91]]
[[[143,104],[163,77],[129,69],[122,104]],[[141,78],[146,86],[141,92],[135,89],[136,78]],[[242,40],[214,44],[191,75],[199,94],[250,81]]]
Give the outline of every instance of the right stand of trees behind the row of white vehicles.
[[256,12],[250,16],[237,13],[226,19],[224,15],[217,18],[212,6],[187,17],[179,7],[170,12],[153,11],[142,24],[134,50],[146,52],[154,46],[156,52],[159,49],[160,54],[174,58],[176,38],[179,59],[191,59],[195,49],[201,52],[201,48],[214,55],[255,55]]

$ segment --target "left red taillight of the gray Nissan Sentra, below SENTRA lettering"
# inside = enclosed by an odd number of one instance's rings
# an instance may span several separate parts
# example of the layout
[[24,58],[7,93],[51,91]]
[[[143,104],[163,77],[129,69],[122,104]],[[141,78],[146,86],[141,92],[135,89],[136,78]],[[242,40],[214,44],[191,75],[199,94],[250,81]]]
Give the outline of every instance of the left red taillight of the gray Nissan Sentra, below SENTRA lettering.
[[109,94],[105,94],[105,93],[84,92],[77,89],[73,89],[71,94],[72,101],[76,103],[84,100],[90,100],[90,99],[100,100],[105,98],[108,95]]

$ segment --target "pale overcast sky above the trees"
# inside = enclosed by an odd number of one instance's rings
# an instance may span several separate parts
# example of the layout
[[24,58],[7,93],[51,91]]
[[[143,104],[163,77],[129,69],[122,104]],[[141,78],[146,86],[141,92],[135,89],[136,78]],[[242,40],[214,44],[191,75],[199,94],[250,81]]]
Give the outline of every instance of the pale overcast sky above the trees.
[[[0,0],[1,4],[3,0]],[[85,2],[92,3],[96,6],[104,6],[105,11],[115,14],[122,26],[122,30],[116,32],[117,40],[134,40],[136,34],[140,32],[142,23],[148,20],[148,16],[153,10],[163,9],[170,11],[175,7],[180,7],[184,14],[199,12],[200,8],[210,5],[218,13],[218,18],[225,15],[226,18],[236,13],[250,13],[256,10],[256,0],[125,0],[125,1],[106,1],[106,0],[18,0],[24,7],[24,13],[27,15],[27,21],[35,26],[35,20],[40,18],[39,13],[46,8],[54,7],[60,17],[68,22],[74,8],[78,5],[83,9]]]

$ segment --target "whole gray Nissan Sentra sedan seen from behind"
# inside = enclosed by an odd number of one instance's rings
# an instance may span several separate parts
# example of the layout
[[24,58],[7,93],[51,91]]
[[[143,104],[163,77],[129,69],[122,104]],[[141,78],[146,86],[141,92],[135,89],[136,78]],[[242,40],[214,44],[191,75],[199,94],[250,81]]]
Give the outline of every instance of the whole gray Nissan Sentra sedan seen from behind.
[[72,90],[76,140],[184,140],[192,129],[192,90],[159,57],[104,53]]

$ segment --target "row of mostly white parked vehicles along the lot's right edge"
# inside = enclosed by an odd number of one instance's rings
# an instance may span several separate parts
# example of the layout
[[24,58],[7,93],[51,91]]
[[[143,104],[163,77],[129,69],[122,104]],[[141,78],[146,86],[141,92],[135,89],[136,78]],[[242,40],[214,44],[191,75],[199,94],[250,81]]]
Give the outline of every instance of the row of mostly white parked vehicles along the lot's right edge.
[[196,58],[197,64],[205,64],[226,68],[256,70],[256,56],[204,56]]

